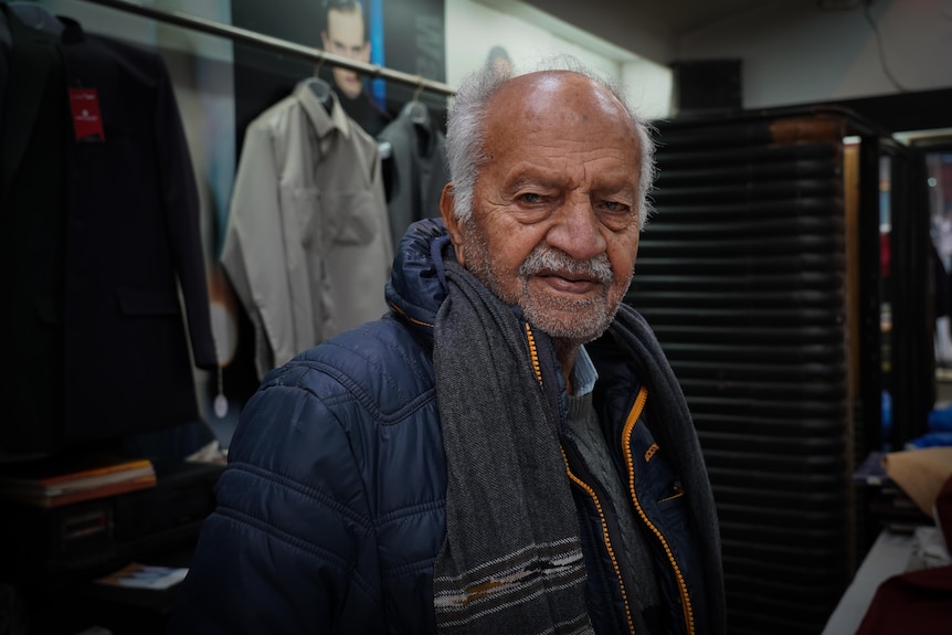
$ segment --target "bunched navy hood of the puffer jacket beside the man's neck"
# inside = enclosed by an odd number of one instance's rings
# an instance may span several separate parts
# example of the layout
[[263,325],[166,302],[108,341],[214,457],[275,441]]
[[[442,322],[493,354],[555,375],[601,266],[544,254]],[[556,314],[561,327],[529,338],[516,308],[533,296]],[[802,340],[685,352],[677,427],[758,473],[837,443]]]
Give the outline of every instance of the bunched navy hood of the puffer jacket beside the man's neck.
[[417,221],[403,234],[387,283],[390,308],[431,340],[436,313],[446,298],[443,262],[455,257],[442,219]]

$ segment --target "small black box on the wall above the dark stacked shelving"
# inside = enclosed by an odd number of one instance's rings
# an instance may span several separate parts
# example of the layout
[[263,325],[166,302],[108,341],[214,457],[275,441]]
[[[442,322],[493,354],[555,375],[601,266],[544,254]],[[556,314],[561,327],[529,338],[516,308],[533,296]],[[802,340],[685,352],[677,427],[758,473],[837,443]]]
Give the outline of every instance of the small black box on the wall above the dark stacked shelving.
[[742,109],[740,60],[681,61],[671,70],[676,116]]

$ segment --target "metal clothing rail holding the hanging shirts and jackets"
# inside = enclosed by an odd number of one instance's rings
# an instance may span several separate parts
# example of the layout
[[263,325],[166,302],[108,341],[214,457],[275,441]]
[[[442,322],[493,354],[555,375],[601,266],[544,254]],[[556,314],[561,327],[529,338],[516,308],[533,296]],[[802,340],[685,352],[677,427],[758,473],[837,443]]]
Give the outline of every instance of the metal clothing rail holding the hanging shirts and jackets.
[[452,96],[456,94],[456,91],[454,91],[448,84],[444,84],[443,82],[434,82],[433,80],[426,80],[422,75],[412,75],[410,73],[394,71],[393,68],[387,68],[385,66],[380,66],[379,64],[366,64],[363,62],[356,62],[340,55],[335,55],[334,53],[327,53],[325,51],[321,51],[320,49],[304,46],[302,44],[288,42],[287,40],[281,40],[279,38],[272,38],[269,35],[264,35],[255,31],[250,31],[247,29],[240,29],[237,27],[232,27],[231,24],[223,24],[222,22],[216,22],[214,20],[207,20],[198,15],[192,15],[191,13],[183,13],[181,11],[162,11],[159,9],[152,9],[151,7],[136,4],[135,2],[130,2],[128,0],[84,1],[92,2],[93,4],[101,4],[103,7],[109,7],[110,9],[118,9],[119,11],[126,11],[128,13],[135,13],[137,15],[144,15],[146,18],[151,18],[152,20],[158,20],[160,22],[168,22],[170,24],[176,24],[177,27],[183,27],[186,29],[201,31],[202,33],[209,33],[211,35],[218,35],[220,38],[226,38],[229,40],[241,42],[243,44],[251,44],[252,46],[257,46],[277,53],[285,53],[296,57],[302,57],[304,60],[315,62],[316,64],[329,64],[332,66],[340,66],[349,71],[363,73],[364,75],[369,75],[371,77],[381,77],[383,80],[399,82],[401,84],[406,84],[423,91],[430,91],[442,95]]

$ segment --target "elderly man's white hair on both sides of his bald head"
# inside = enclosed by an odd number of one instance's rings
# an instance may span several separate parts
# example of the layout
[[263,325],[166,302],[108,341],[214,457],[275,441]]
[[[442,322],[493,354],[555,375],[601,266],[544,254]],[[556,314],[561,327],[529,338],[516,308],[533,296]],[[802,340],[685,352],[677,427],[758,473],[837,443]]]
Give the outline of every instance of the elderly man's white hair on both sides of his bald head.
[[[624,106],[638,137],[641,178],[638,180],[638,226],[644,229],[653,205],[648,198],[654,188],[655,167],[654,127],[638,116],[628,104],[620,82],[602,76],[584,66],[571,55],[559,55],[543,62],[537,71],[572,71],[580,73],[612,93]],[[449,163],[449,180],[455,197],[454,214],[461,222],[468,222],[474,208],[476,180],[486,161],[485,136],[488,103],[506,82],[516,74],[510,68],[484,66],[466,77],[459,85],[449,108],[446,130],[446,158]]]

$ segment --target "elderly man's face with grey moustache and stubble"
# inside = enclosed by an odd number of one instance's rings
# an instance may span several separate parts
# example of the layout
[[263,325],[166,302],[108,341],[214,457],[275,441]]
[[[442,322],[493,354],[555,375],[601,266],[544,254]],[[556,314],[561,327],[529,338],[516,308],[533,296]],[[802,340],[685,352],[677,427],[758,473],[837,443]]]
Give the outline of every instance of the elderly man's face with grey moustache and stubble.
[[[505,85],[489,105],[472,220],[447,220],[474,275],[573,343],[611,324],[638,248],[637,136],[624,107],[593,86],[573,73]],[[452,192],[444,199],[452,205]]]

